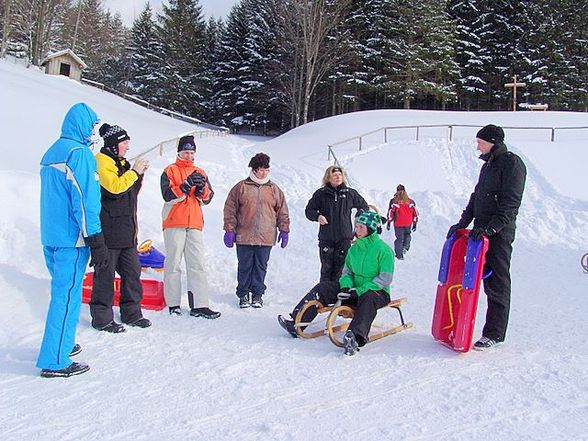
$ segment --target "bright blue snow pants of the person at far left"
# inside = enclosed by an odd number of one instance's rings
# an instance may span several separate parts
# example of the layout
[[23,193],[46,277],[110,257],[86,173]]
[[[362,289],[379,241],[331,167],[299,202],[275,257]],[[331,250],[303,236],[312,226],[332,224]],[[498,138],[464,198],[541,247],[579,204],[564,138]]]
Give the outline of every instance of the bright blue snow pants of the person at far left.
[[43,252],[51,275],[51,301],[37,367],[59,370],[72,363],[69,354],[75,344],[90,249],[44,246]]

